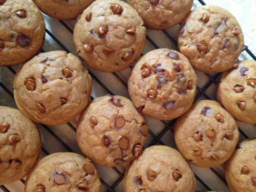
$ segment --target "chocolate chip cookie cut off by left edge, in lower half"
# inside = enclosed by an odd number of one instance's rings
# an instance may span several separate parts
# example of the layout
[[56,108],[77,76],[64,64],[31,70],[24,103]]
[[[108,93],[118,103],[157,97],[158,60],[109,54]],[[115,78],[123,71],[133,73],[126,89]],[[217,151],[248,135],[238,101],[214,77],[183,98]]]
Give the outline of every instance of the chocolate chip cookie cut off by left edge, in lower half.
[[0,106],[0,185],[24,178],[41,152],[41,135],[20,111]]

